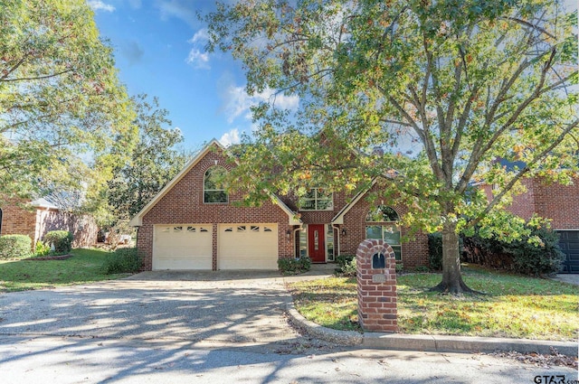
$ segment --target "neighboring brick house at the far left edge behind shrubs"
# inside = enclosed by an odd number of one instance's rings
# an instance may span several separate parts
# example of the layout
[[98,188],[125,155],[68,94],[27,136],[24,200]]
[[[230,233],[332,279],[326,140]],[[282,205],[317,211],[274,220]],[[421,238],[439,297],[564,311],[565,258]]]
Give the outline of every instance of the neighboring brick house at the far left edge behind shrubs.
[[71,231],[74,248],[92,246],[97,242],[97,225],[90,216],[60,211],[45,199],[31,202],[7,199],[0,206],[0,236],[26,235],[33,240],[34,246],[51,230]]

